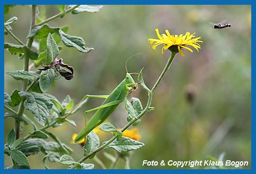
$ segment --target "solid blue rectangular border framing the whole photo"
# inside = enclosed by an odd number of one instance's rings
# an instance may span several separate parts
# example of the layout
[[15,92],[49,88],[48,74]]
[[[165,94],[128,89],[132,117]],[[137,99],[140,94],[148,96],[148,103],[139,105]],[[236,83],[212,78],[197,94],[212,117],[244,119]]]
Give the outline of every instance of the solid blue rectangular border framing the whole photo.
[[[50,1],[50,0],[44,0],[44,1],[29,1],[29,0],[23,0],[23,1],[18,1],[18,0],[12,0],[12,1],[0,1],[1,3],[1,13],[3,14],[4,12],[4,4],[94,4],[94,5],[97,5],[97,4],[102,4],[102,5],[146,5],[146,4],[150,4],[150,5],[164,5],[164,4],[173,4],[173,5],[194,5],[194,4],[201,4],[201,5],[251,5],[251,11],[252,11],[252,16],[254,16],[254,12],[253,12],[253,5],[254,5],[254,2],[253,1],[238,1],[238,0],[233,0],[233,1],[227,1],[227,0],[210,0],[210,1],[188,1],[188,0],[183,0],[183,1],[170,1],[170,0],[158,0],[158,1],[152,1],[152,0],[147,0],[147,1],[135,1],[135,0],[130,0],[130,1],[118,1],[118,0],[108,0],[108,1],[103,1],[103,0],[94,0],[94,1],[79,1],[79,0],[72,0],[72,1],[69,1],[69,0],[62,0],[62,1]],[[1,21],[2,23],[4,23],[4,15],[1,16]],[[252,18],[252,25],[251,25],[251,29],[253,31],[253,23],[254,23],[254,18]],[[254,44],[254,40],[253,38],[255,37],[255,34],[252,32],[252,45]],[[1,40],[4,41],[4,33],[3,33],[3,30],[2,30],[2,34],[1,34]],[[252,46],[253,47],[253,46]],[[4,57],[4,50],[1,50],[1,55],[2,57]],[[255,67],[255,61],[253,59],[254,57],[254,53],[252,52],[251,53],[251,62],[252,62],[252,67]],[[1,79],[2,79],[2,85],[1,85],[1,91],[4,92],[4,59],[2,58],[1,59],[1,64],[0,66],[2,67],[1,70],[2,70],[2,73],[1,73]],[[253,89],[253,87],[255,86],[255,80],[254,80],[254,70],[252,68],[252,71],[251,71],[251,75],[252,75],[252,83],[251,83],[251,87]],[[254,112],[255,112],[255,102],[254,102],[254,93],[252,92],[252,100],[251,100],[251,105],[252,105],[252,115],[254,115]],[[3,101],[3,98],[1,100],[1,103],[4,103]],[[1,107],[0,108],[1,110],[1,113],[4,113],[4,107]],[[2,125],[4,124],[4,118],[2,117]],[[251,123],[255,123],[255,119],[253,117],[251,117]],[[254,135],[255,135],[255,129],[253,129],[253,127],[251,127],[252,130],[251,130],[251,147],[253,147],[253,145],[255,144],[254,143]],[[4,126],[2,127],[2,131],[1,131],[1,140],[4,144]],[[4,151],[3,149],[1,150],[1,154],[4,154]],[[167,173],[167,172],[172,172],[172,173],[254,173],[256,172],[255,170],[255,162],[254,162],[254,149],[252,148],[251,149],[251,152],[252,152],[252,169],[236,169],[236,170],[211,170],[211,169],[206,169],[206,170],[201,170],[201,169],[173,169],[173,170],[165,170],[165,169],[153,169],[153,170],[149,170],[149,169],[144,169],[144,170],[136,170],[136,169],[132,169],[132,170],[105,170],[104,172],[106,173],[155,173],[155,172],[158,172],[158,173]],[[41,162],[41,161],[39,161]],[[1,173],[34,173],[34,172],[38,172],[38,173],[43,173],[45,172],[45,170],[5,170],[4,169],[4,158],[1,158],[1,163],[3,164],[2,168],[0,169],[0,172]],[[84,173],[84,172],[89,172],[89,173],[101,173],[102,170],[87,170],[87,171],[84,171],[84,170],[47,170],[47,172],[49,173],[55,173],[55,172],[60,172],[60,173]]]

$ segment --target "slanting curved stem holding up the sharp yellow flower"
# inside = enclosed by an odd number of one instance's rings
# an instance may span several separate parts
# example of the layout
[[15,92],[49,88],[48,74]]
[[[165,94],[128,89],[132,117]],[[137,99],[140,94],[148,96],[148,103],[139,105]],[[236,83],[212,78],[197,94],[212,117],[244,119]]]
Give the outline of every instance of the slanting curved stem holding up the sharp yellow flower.
[[[151,101],[152,101],[152,94],[155,91],[157,85],[159,84],[159,82],[163,79],[163,76],[165,75],[165,73],[167,72],[167,70],[169,69],[169,66],[172,64],[173,60],[174,60],[174,56],[177,52],[172,52],[172,54],[169,57],[169,60],[167,62],[167,64],[164,67],[164,70],[162,71],[162,73],[160,74],[159,78],[157,79],[156,83],[154,84],[153,88],[150,90],[150,92],[148,92],[148,101],[147,101],[147,105],[145,107],[145,109],[134,119],[132,119],[129,123],[127,123],[125,125],[124,128],[121,129],[121,132],[124,132],[126,129],[128,129],[135,121],[137,121],[138,119],[140,119],[141,117],[143,117],[143,115],[145,115],[145,113],[147,113],[149,111],[150,105],[151,105]],[[110,144],[112,141],[114,141],[117,138],[117,135],[113,136],[111,139],[109,139],[105,144],[101,145],[98,149],[94,150],[93,152],[89,153],[87,156],[84,156],[83,158],[81,158],[78,162],[81,163],[84,160],[86,160],[87,158],[91,157],[93,154],[96,154],[98,151],[104,149],[106,146],[108,146],[108,144]],[[73,166],[70,169],[74,169],[75,166]]]

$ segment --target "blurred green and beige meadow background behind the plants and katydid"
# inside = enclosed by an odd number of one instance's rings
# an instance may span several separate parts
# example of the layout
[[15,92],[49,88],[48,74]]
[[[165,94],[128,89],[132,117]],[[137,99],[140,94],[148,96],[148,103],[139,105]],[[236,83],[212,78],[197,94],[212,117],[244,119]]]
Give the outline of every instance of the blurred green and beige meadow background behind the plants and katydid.
[[[42,6],[39,6],[42,10]],[[46,17],[59,13],[58,6],[45,6]],[[12,16],[18,20],[12,25],[13,33],[23,42],[29,32],[30,6],[10,9],[5,21]],[[223,20],[232,27],[214,30],[213,23]],[[151,49],[148,38],[157,38],[167,29],[171,34],[187,31],[200,36],[202,49],[197,53],[184,51],[185,57],[176,55],[175,61],[157,87],[152,106],[138,125],[141,142],[145,146],[131,154],[131,168],[143,167],[143,160],[205,160],[208,156],[218,158],[225,152],[224,160],[249,161],[251,168],[251,6],[232,5],[106,5],[98,13],[67,14],[64,18],[49,23],[51,26],[69,26],[68,34],[81,36],[90,53],[80,53],[71,47],[63,47],[60,56],[74,67],[74,78],[56,81],[49,90],[62,101],[67,94],[77,103],[86,94],[109,94],[125,77],[125,62],[130,59],[129,72],[139,72],[143,67],[144,81],[151,88],[169,57],[161,54],[161,48]],[[15,43],[10,36],[5,42]],[[63,45],[63,43],[61,43]],[[23,69],[23,60],[5,50],[5,71]],[[33,68],[32,70],[36,70]],[[137,76],[134,75],[137,79]],[[21,81],[5,74],[5,92],[21,89]],[[129,95],[139,98],[144,106],[147,93],[139,87]],[[190,98],[188,98],[190,96]],[[188,100],[193,98],[193,100]],[[84,107],[71,116],[77,127],[64,123],[62,127],[49,129],[60,140],[74,149],[72,157],[79,160],[83,150],[79,144],[71,144],[73,133],[83,127],[85,110],[97,107],[101,99],[90,99]],[[17,108],[16,108],[17,109]],[[32,117],[29,111],[25,112]],[[124,103],[108,121],[123,127],[127,112]],[[5,120],[5,141],[14,127],[12,119]],[[33,128],[24,127],[22,136]],[[111,137],[100,133],[101,142]],[[113,150],[107,150],[115,154]],[[30,156],[33,169],[44,168],[43,153]],[[110,161],[100,152],[97,155],[107,166]],[[87,163],[95,163],[87,160]],[[122,168],[119,160],[116,168]],[[5,156],[5,167],[10,166],[10,157]],[[67,166],[48,163],[50,168]],[[95,168],[100,166],[95,163]]]

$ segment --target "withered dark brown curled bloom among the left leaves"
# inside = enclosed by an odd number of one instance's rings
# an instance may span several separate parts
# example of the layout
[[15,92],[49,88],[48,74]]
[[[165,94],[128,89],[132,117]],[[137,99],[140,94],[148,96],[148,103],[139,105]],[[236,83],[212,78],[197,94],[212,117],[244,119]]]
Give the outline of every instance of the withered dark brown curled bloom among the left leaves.
[[[67,80],[71,80],[74,76],[74,69],[72,66],[69,66],[68,64],[63,63],[62,59],[54,59],[52,61],[52,63],[50,65],[44,65],[44,63],[42,62],[42,66],[43,68],[39,69],[42,71],[48,70],[50,69],[52,66],[56,67],[56,70]],[[61,67],[67,67],[67,69],[69,69],[71,72],[63,72],[63,70],[61,69]]]

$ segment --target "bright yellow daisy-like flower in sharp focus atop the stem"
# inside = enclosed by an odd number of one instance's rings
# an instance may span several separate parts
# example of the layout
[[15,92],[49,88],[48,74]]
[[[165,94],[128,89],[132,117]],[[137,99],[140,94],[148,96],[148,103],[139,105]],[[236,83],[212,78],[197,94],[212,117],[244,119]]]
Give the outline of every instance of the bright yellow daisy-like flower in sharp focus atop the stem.
[[148,41],[150,42],[150,44],[154,45],[152,46],[152,49],[156,49],[156,47],[158,45],[164,44],[163,48],[162,48],[162,54],[164,54],[164,50],[169,49],[170,51],[175,51],[175,52],[179,52],[183,57],[185,56],[182,52],[181,49],[186,49],[190,52],[193,52],[192,49],[190,49],[189,47],[185,46],[185,45],[190,45],[192,47],[194,47],[194,49],[197,50],[201,49],[201,46],[197,43],[197,42],[203,42],[203,41],[199,41],[199,39],[201,37],[195,37],[194,34],[190,34],[189,32],[186,32],[185,35],[180,34],[180,35],[170,35],[168,30],[165,30],[166,34],[159,34],[158,28],[156,28],[156,34],[158,39],[154,39],[154,38],[149,38]]

